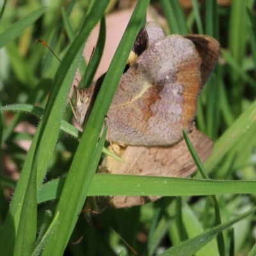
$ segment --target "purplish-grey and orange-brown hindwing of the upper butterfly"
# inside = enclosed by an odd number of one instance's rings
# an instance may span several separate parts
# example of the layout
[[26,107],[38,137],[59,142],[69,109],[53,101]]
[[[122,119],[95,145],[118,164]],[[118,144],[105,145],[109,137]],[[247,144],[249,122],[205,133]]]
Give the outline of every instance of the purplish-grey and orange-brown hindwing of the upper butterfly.
[[201,60],[191,40],[166,36],[122,76],[108,112],[111,142],[167,146],[189,131],[202,88]]

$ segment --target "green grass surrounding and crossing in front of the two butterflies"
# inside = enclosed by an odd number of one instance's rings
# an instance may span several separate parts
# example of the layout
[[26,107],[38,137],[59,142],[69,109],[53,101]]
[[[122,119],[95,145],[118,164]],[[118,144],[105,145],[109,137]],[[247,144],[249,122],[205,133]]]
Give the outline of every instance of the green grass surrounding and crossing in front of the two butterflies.
[[[186,19],[179,1],[159,1],[172,33],[211,35],[222,47],[196,117],[198,129],[215,141],[204,164],[211,179],[205,180],[200,163],[204,179],[199,172],[194,179],[95,175],[106,131],[98,141],[99,134],[148,2],[138,1],[83,135],[70,125],[68,93],[77,67],[86,68],[81,52],[100,21],[86,84],[92,81],[104,47],[109,1],[49,1],[47,8],[40,1],[2,3],[0,161],[4,169],[10,157],[20,179],[16,184],[1,172],[1,255],[132,254],[111,228],[140,255],[255,255],[255,1],[217,6],[215,0],[193,0]],[[36,38],[49,43],[61,64],[35,44]],[[35,136],[15,132],[24,120],[38,127]],[[20,140],[33,140],[28,154]],[[10,206],[6,188],[15,188]],[[87,195],[168,197],[105,211],[90,225],[79,215]],[[80,243],[72,244],[83,234]]]

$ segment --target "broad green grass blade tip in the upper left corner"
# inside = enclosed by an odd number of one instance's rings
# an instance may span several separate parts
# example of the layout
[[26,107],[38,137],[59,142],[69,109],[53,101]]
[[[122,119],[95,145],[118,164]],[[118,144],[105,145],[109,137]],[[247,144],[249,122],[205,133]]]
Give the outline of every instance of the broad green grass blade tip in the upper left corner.
[[30,13],[26,17],[20,19],[10,28],[6,29],[0,35],[0,49],[11,42],[13,39],[17,38],[28,26],[33,24],[42,14],[45,12],[46,7],[39,8],[33,13]]

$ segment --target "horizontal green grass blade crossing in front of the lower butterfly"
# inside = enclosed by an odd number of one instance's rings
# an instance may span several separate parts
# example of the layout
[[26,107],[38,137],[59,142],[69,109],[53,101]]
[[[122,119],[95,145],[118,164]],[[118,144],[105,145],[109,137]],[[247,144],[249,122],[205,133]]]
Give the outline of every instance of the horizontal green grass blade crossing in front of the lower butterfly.
[[[38,204],[58,199],[65,178],[51,180],[38,191]],[[138,175],[97,174],[93,177],[88,196],[202,196],[253,194],[254,180],[202,180]],[[154,193],[153,193],[154,192]]]

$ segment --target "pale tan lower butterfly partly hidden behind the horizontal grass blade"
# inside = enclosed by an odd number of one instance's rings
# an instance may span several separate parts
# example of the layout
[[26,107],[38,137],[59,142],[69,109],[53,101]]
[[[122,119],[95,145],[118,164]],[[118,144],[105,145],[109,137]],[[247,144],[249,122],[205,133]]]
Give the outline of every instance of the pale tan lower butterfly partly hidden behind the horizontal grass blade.
[[[202,132],[193,129],[189,138],[204,162],[213,149],[212,141]],[[122,147],[113,144],[115,152],[125,163],[106,156],[98,173],[147,175],[161,177],[189,177],[196,171],[196,165],[184,140],[172,147]],[[113,151],[111,147],[108,148]],[[102,212],[106,208],[123,208],[153,202],[161,196],[97,196],[86,200],[86,209]]]

